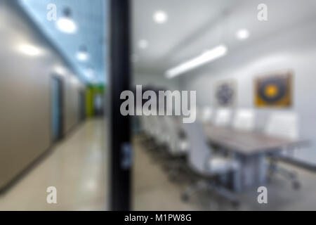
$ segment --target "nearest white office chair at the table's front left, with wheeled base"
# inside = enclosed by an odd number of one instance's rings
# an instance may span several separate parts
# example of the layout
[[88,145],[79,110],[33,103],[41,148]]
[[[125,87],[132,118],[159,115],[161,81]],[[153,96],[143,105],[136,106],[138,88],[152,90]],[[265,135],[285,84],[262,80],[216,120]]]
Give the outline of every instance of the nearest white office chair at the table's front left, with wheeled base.
[[220,176],[232,173],[233,184],[238,182],[239,165],[235,160],[217,157],[213,155],[208,146],[202,127],[197,122],[183,124],[187,139],[190,143],[188,151],[188,165],[192,172],[199,176],[200,180],[183,193],[183,200],[189,200],[190,196],[202,191],[215,191],[219,195],[227,198],[233,205],[238,205],[235,195],[220,184]]

